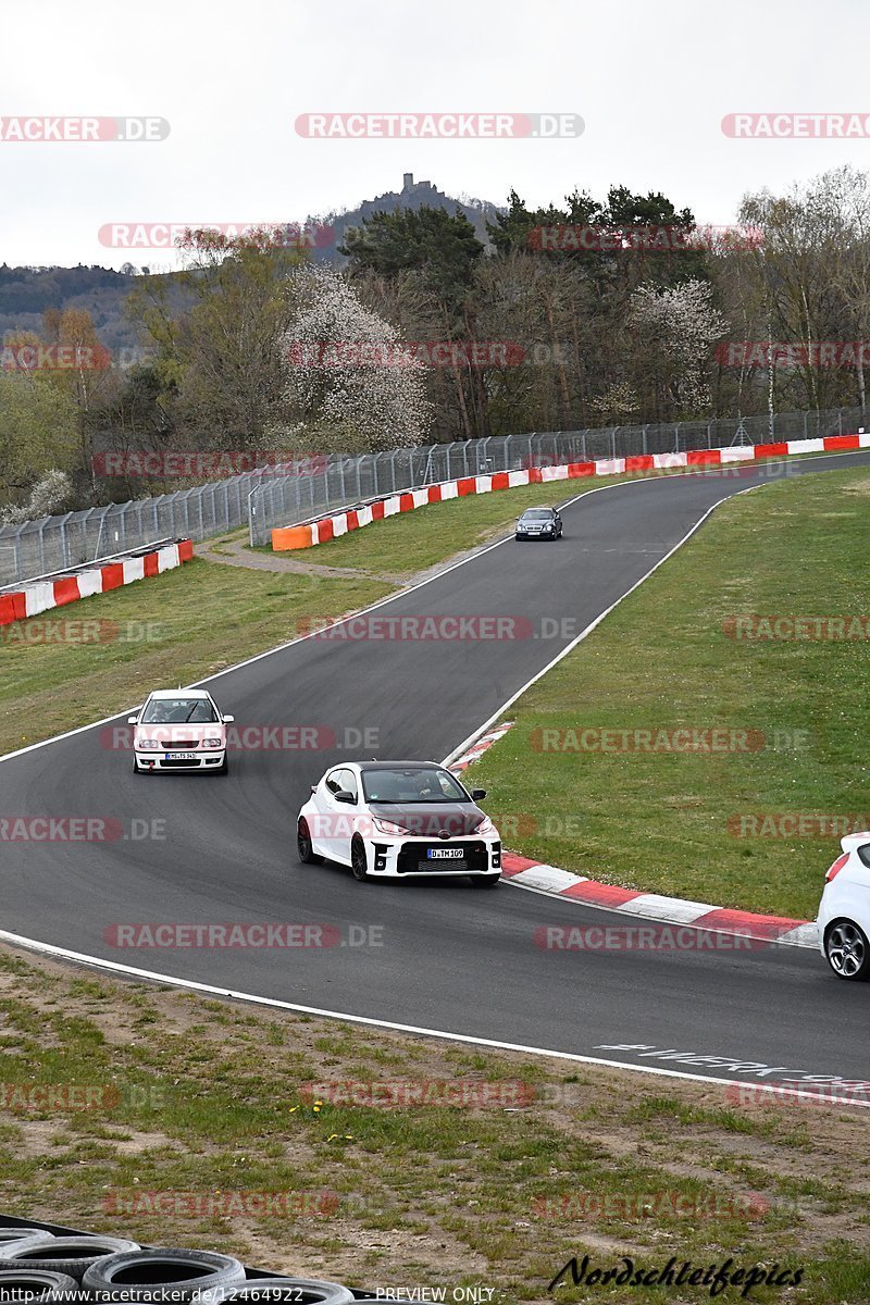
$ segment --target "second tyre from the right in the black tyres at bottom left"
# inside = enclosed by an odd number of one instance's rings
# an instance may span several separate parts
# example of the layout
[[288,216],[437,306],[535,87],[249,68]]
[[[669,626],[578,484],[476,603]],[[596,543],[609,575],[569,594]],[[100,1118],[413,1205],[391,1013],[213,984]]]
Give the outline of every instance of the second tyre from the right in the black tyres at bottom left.
[[166,1301],[168,1292],[180,1301],[209,1292],[217,1302],[244,1282],[245,1267],[235,1255],[160,1246],[104,1255],[85,1271],[82,1287],[99,1301]]

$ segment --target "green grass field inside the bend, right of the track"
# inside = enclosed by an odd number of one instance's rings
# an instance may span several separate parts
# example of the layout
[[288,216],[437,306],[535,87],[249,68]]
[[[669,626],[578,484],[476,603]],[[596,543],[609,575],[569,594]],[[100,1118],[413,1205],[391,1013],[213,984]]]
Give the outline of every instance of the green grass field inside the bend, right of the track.
[[[749,613],[870,615],[869,560],[866,468],[717,508],[510,709],[515,728],[473,771],[517,830],[506,842],[605,882],[811,919],[839,840],[789,835],[788,817],[870,825],[867,642],[727,632]],[[583,733],[716,727],[753,731],[758,750],[604,753]]]

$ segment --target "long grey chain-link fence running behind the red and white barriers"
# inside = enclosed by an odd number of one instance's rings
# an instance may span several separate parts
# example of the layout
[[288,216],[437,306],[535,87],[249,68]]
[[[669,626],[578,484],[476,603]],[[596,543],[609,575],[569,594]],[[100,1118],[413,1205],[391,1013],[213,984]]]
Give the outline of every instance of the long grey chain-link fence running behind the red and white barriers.
[[489,436],[360,457],[330,454],[316,459],[318,468],[322,467],[316,474],[307,474],[305,463],[269,466],[155,499],[3,526],[0,587],[97,561],[157,539],[201,540],[245,525],[252,544],[267,544],[274,526],[299,525],[367,499],[438,480],[518,471],[549,462],[850,435],[863,420],[860,408],[780,412],[773,418],[766,414],[667,425]]

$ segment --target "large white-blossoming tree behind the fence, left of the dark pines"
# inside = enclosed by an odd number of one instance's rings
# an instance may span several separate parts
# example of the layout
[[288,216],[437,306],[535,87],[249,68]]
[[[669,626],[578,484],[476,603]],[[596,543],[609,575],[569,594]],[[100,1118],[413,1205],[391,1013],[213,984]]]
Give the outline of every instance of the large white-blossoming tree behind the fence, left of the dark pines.
[[318,453],[368,453],[421,444],[432,423],[424,365],[399,333],[322,266],[287,281],[292,304],[278,348],[288,424],[270,442]]

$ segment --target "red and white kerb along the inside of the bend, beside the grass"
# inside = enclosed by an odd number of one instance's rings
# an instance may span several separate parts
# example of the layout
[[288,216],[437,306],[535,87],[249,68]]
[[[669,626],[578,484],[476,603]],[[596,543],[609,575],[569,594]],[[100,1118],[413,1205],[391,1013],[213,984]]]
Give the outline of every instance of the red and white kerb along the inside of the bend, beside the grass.
[[[502,739],[513,724],[513,720],[506,720],[496,728],[488,729],[447,769],[454,774],[462,774],[488,748]],[[661,924],[686,924],[707,933],[730,933],[760,942],[781,942],[792,947],[815,949],[818,946],[818,928],[813,920],[757,915],[753,911],[712,906],[710,902],[687,902],[683,898],[661,897],[659,893],[621,889],[614,883],[601,883],[584,874],[562,870],[557,865],[532,861],[517,852],[503,852],[501,864],[502,878],[509,880],[517,887],[531,889],[548,897],[570,898],[571,902],[582,902],[583,906],[616,911],[618,915],[638,916],[643,920],[657,920]]]

